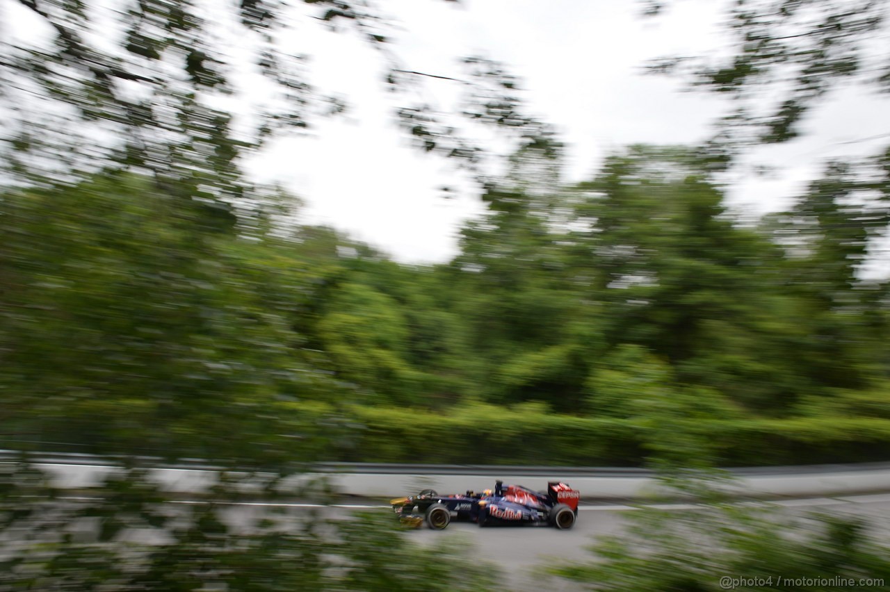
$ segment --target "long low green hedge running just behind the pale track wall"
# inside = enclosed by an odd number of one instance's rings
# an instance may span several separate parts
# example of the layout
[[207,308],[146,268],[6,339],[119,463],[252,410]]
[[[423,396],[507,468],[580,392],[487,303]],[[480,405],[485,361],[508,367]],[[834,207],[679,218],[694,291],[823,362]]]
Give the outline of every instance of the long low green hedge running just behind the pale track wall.
[[[665,469],[885,460],[890,421],[861,416],[722,419],[707,390],[638,397],[634,416],[578,417],[544,404],[464,404],[448,412],[353,406],[354,448],[340,460]],[[708,416],[708,406],[715,413]],[[729,416],[738,414],[730,409]]]

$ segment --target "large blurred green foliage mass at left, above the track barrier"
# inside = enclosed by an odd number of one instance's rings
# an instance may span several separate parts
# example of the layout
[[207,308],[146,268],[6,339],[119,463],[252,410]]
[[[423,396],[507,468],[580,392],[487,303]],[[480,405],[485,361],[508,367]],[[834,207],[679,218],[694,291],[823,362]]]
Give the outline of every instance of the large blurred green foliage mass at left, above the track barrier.
[[221,460],[291,458],[294,436],[312,449],[313,422],[284,405],[339,388],[295,353],[294,260],[204,235],[130,175],[10,191],[0,212],[6,437]]

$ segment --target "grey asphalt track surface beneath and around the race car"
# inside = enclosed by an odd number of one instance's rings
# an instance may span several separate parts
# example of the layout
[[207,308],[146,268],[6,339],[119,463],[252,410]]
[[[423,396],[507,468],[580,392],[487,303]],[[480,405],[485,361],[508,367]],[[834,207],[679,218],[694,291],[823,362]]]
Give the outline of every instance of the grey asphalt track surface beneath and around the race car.
[[[890,539],[890,493],[756,503],[773,505],[779,508],[783,516],[788,517],[806,516],[812,512],[860,516],[870,525],[870,531],[878,537],[878,540]],[[268,507],[287,508],[287,513],[291,515],[320,508],[315,504],[300,502],[243,502],[232,504],[227,514],[233,525],[247,524],[259,511]],[[687,514],[700,509],[700,506],[684,503],[660,504],[653,507]],[[376,501],[353,501],[328,508],[334,516],[344,517],[356,510],[392,511],[389,505]],[[456,548],[472,545],[473,557],[496,565],[504,574],[505,590],[568,592],[582,588],[571,582],[547,578],[539,573],[541,568],[557,561],[588,561],[592,555],[587,548],[604,535],[619,534],[622,527],[627,524],[627,516],[638,509],[638,506],[596,505],[582,501],[578,507],[578,522],[568,531],[558,531],[546,526],[480,528],[473,523],[455,522],[449,524],[444,531],[433,531],[423,527],[406,532],[406,536],[417,545],[418,552],[423,552],[423,548],[427,545],[442,540],[448,541]]]

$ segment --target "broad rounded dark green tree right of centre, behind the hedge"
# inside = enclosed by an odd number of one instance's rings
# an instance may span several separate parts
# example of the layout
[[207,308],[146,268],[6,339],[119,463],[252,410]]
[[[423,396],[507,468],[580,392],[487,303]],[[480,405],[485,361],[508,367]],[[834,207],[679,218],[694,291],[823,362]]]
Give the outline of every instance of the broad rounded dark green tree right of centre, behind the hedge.
[[783,253],[732,220],[701,166],[683,148],[630,148],[578,187],[578,219],[595,222],[576,251],[590,258],[604,339],[664,356],[685,384],[788,409],[813,385],[791,348],[805,318],[784,293]]

